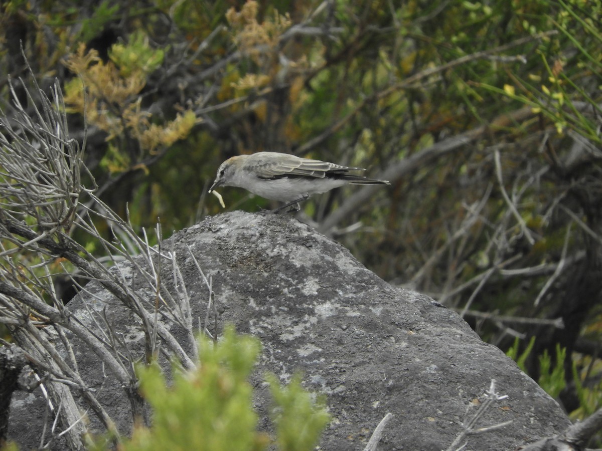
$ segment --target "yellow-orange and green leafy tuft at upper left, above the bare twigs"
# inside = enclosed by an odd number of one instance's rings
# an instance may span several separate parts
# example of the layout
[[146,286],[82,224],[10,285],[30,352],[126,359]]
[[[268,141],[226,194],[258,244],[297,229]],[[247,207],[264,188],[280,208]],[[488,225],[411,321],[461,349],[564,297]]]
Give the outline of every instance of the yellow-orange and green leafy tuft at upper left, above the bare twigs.
[[[188,136],[196,123],[191,110],[171,121],[158,124],[141,106],[140,95],[147,77],[163,63],[164,51],[153,49],[143,32],[134,32],[128,43],[117,43],[108,52],[105,63],[95,49],[86,51],[80,44],[65,64],[79,75],[65,85],[65,103],[69,112],[85,114],[88,123],[108,133],[107,141],[129,136],[137,141],[141,152],[132,161],[131,149],[112,145],[101,165],[111,172],[125,171],[140,164],[143,156],[172,146]],[[84,97],[84,87],[87,96]]]

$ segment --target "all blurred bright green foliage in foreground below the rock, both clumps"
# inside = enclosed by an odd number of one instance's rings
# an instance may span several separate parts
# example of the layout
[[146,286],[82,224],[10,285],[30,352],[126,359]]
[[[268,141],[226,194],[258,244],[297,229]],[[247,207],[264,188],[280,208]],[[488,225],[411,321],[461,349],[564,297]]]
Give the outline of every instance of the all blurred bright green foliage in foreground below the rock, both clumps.
[[[174,369],[168,385],[157,363],[138,366],[140,391],[153,410],[152,426],[138,425],[120,451],[191,450],[253,451],[267,449],[270,439],[257,432],[253,390],[248,378],[261,345],[227,328],[215,344],[199,337],[199,366],[190,372]],[[276,443],[283,451],[312,450],[329,421],[321,403],[303,390],[300,377],[281,387],[268,376],[275,403]],[[108,438],[90,441],[104,450]]]

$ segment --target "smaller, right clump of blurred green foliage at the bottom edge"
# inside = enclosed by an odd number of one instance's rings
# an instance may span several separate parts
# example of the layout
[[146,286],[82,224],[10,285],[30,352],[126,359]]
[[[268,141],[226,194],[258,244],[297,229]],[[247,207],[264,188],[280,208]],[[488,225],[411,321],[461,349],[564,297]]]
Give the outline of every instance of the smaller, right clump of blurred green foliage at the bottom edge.
[[276,442],[279,449],[305,451],[314,449],[320,433],[330,420],[323,403],[316,404],[312,395],[303,390],[301,376],[294,376],[287,387],[281,387],[276,376],[268,382],[276,404]]

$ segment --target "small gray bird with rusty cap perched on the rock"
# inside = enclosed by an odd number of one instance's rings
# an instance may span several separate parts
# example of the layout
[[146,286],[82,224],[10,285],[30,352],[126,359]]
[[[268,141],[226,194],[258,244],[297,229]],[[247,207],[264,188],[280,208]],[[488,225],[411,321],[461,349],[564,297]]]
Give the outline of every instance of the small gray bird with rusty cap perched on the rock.
[[354,174],[364,168],[347,167],[326,161],[301,158],[280,152],[257,152],[227,159],[217,170],[216,180],[209,193],[218,186],[237,186],[266,199],[299,210],[299,202],[313,194],[321,194],[339,186],[390,185],[388,180],[368,179]]

